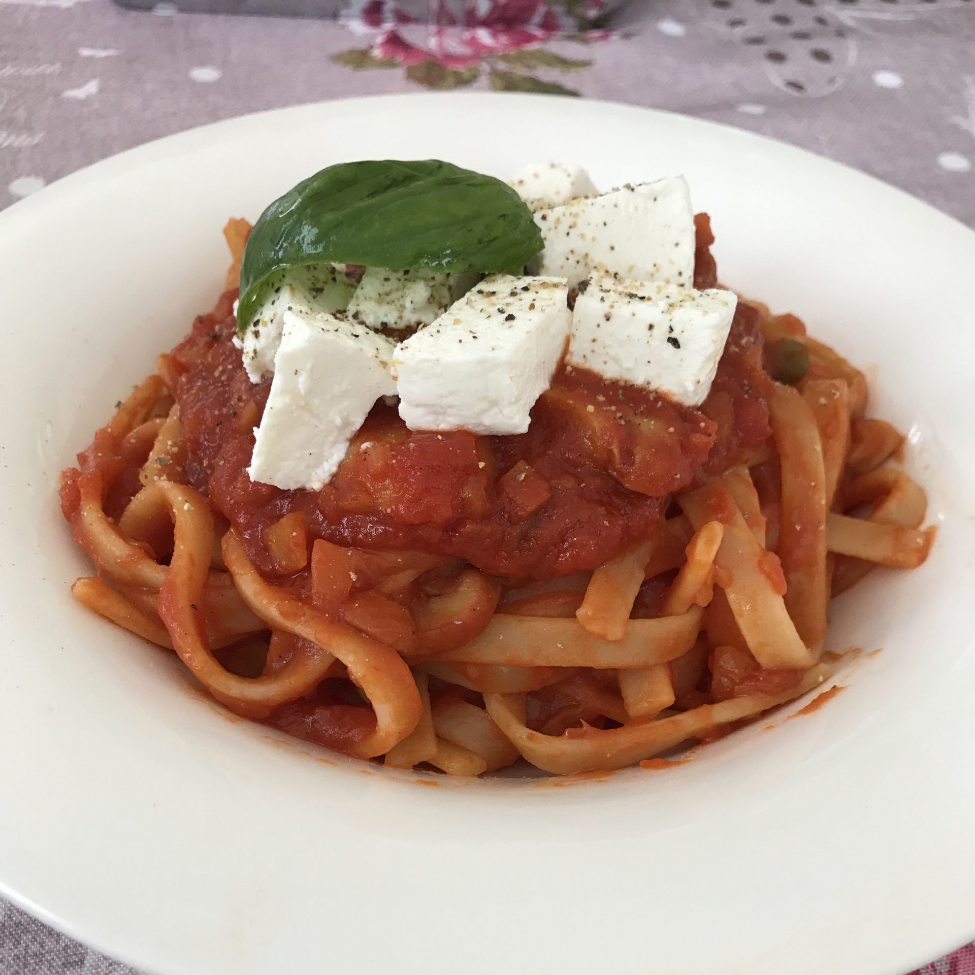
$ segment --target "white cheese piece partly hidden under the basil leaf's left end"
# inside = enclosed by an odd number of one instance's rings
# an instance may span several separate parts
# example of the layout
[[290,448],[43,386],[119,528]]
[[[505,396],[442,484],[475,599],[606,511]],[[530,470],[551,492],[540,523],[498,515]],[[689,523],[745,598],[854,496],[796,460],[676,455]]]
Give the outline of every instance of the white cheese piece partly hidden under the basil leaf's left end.
[[[293,268],[287,280],[275,287],[254,318],[254,324],[243,333],[234,335],[234,345],[243,354],[244,369],[252,382],[260,382],[274,372],[274,357],[281,344],[285,314],[291,310],[314,315],[344,308],[355,282],[344,271],[345,265],[315,264]],[[237,307],[234,306],[234,314]]]

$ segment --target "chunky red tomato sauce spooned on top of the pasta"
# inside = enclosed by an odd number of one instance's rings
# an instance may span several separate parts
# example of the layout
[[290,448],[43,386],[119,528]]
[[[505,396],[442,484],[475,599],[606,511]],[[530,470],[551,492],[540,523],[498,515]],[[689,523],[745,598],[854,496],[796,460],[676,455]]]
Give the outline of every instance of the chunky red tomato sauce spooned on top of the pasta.
[[[699,247],[695,284],[708,286],[705,252]],[[411,432],[379,403],[321,491],[254,484],[246,468],[270,380],[253,385],[231,343],[234,297],[224,293],[197,319],[170,362],[181,372],[185,480],[209,495],[267,576],[276,566],[263,533],[292,512],[304,518],[309,542],[421,550],[509,577],[593,569],[649,534],[670,494],[739,462],[770,435],[758,314],[739,302],[700,409],[562,369],[522,436]]]

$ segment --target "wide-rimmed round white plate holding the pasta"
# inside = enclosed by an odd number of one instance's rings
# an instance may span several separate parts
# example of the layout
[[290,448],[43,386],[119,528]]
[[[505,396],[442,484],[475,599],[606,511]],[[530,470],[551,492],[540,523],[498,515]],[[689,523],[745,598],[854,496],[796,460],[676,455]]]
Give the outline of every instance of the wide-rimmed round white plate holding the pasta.
[[[72,603],[61,467],[219,292],[220,228],[352,158],[604,186],[683,172],[722,280],[869,368],[941,523],[831,643],[827,707],[665,772],[417,778],[228,720]],[[166,138],[0,215],[0,889],[167,975],[894,975],[975,935],[975,234],[799,149],[614,104],[456,95]],[[793,710],[797,710],[794,706]],[[316,761],[317,760],[317,761]],[[428,784],[428,782],[426,783]]]

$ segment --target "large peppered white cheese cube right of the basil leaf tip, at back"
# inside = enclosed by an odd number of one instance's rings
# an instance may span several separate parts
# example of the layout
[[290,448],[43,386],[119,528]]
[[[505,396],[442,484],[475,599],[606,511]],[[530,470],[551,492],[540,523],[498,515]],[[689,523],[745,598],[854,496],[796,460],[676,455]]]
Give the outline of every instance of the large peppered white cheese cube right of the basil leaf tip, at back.
[[683,176],[573,200],[535,214],[545,240],[538,273],[574,287],[591,273],[690,288],[694,213]]

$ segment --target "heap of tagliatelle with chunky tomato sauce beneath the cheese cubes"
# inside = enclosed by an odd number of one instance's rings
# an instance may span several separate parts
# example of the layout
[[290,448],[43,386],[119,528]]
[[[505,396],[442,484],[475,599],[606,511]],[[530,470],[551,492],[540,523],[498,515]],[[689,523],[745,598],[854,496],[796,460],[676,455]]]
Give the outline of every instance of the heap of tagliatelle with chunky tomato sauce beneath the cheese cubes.
[[[231,346],[249,229],[225,231],[214,312],[60,492],[97,573],[75,598],[237,715],[401,769],[621,768],[822,683],[831,598],[927,557],[863,374],[744,301],[699,410],[563,370],[524,436],[409,434],[378,404],[321,492],[252,484],[266,389]],[[793,384],[762,368],[781,339],[808,354]],[[673,489],[624,487],[634,445]]]

